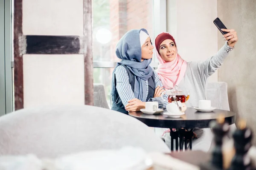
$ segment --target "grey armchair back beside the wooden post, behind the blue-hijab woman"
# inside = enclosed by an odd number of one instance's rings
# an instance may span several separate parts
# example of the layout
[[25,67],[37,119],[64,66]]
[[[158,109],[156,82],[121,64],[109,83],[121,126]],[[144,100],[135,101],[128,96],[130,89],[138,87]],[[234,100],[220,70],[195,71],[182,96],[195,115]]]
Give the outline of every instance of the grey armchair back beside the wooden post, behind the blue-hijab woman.
[[104,85],[102,84],[93,84],[93,105],[96,107],[109,109]]

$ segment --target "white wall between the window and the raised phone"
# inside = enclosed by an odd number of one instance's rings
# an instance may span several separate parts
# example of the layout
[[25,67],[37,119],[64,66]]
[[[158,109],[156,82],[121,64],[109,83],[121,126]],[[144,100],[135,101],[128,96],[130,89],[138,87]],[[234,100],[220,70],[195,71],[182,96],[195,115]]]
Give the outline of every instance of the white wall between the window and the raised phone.
[[[217,0],[167,0],[167,31],[186,61],[205,60],[218,51]],[[218,81],[218,73],[209,82]]]

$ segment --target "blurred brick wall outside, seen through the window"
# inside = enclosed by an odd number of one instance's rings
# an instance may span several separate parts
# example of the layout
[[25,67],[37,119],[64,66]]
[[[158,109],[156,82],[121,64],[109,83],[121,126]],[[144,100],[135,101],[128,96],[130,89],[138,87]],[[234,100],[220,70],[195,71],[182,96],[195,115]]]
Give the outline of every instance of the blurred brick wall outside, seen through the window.
[[152,34],[152,0],[110,0],[111,58],[117,59],[116,43],[131,29],[145,28]]

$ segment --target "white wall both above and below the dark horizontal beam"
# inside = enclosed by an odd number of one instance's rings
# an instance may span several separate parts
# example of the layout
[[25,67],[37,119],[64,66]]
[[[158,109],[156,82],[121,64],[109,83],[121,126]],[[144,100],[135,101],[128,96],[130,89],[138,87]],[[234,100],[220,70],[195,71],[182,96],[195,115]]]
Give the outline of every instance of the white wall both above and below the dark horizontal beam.
[[[83,0],[23,0],[24,35],[83,36]],[[24,108],[84,105],[84,56],[23,55]]]

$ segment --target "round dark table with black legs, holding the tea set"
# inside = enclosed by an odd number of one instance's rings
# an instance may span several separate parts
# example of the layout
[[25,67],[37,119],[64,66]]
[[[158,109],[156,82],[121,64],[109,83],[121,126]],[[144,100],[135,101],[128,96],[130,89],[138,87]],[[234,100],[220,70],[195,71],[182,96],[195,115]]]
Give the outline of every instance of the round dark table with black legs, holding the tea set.
[[[187,142],[189,142],[189,148],[192,149],[192,136],[194,128],[207,128],[212,120],[216,120],[219,115],[225,117],[225,122],[229,125],[235,123],[236,113],[232,111],[224,111],[215,109],[212,112],[199,112],[194,108],[187,108],[185,114],[180,118],[172,118],[164,115],[167,112],[166,109],[159,114],[144,114],[142,112],[129,112],[129,115],[145,123],[149,127],[163,127],[170,128],[171,136],[171,150],[173,150],[173,140],[176,140],[176,150],[178,150],[178,138],[185,138],[185,149],[187,149]],[[176,131],[173,131],[175,128]],[[185,129],[190,129],[186,131]],[[180,140],[180,149],[183,149],[183,140]]]

